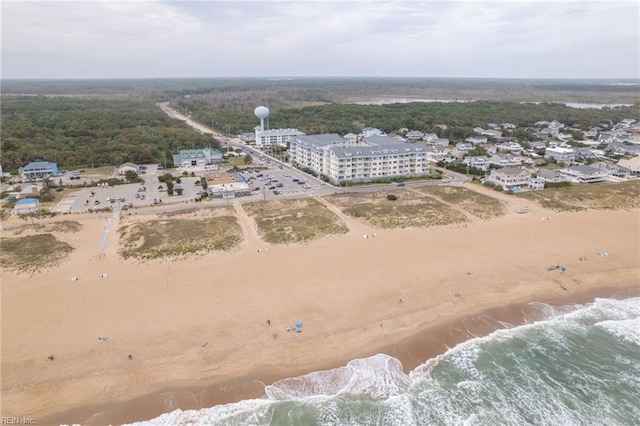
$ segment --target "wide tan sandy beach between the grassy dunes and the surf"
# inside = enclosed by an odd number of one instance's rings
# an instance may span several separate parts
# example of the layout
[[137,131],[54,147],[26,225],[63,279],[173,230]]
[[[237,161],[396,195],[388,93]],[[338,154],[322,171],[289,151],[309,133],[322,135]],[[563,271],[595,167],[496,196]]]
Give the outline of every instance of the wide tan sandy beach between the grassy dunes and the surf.
[[[105,244],[108,219],[66,217],[84,225],[59,235],[76,248],[69,261],[2,271],[2,416],[148,419],[379,352],[408,371],[496,318],[522,322],[527,302],[637,294],[639,213],[533,208],[366,239],[352,223],[306,245],[251,239],[234,253],[145,263],[118,257],[117,224]],[[296,321],[302,332],[286,331]]]

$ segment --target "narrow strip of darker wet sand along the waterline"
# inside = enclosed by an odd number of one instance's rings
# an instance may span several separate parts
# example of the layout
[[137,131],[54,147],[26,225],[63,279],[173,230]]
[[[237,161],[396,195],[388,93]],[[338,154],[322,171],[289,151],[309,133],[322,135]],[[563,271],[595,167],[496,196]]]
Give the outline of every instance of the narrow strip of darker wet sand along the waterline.
[[[625,299],[640,296],[640,283],[610,285],[588,288],[565,296],[550,296],[503,306],[494,306],[477,314],[464,315],[435,324],[404,336],[396,342],[380,345],[377,349],[360,352],[360,356],[341,356],[341,361],[321,363],[313,368],[283,368],[260,366],[241,377],[203,379],[191,383],[176,383],[175,386],[136,397],[128,402],[109,402],[87,405],[42,419],[44,424],[80,424],[83,426],[123,424],[151,420],[175,409],[199,410],[217,405],[239,402],[246,399],[265,397],[264,389],[279,380],[301,376],[314,371],[342,367],[349,361],[383,353],[398,359],[405,374],[429,360],[444,354],[448,349],[467,340],[483,337],[505,328],[517,327],[535,322],[528,315],[544,317],[531,307],[532,303],[542,303],[554,308],[592,303],[596,298]],[[540,318],[543,319],[543,318]],[[508,326],[505,327],[505,324]],[[167,396],[171,395],[171,405]]]

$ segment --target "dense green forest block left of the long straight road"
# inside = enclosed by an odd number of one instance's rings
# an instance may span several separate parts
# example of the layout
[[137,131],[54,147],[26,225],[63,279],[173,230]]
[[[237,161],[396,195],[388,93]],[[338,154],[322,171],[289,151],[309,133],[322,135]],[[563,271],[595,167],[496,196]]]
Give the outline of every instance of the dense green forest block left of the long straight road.
[[161,163],[181,148],[219,146],[150,100],[5,96],[1,119],[2,168],[9,172],[30,161],[59,169]]

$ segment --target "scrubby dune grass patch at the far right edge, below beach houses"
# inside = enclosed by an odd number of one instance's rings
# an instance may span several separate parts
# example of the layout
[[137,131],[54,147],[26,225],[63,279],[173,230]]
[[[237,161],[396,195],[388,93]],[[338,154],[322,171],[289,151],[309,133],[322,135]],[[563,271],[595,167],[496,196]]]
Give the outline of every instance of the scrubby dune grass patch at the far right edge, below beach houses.
[[640,181],[578,184],[516,195],[555,211],[623,210],[640,207]]

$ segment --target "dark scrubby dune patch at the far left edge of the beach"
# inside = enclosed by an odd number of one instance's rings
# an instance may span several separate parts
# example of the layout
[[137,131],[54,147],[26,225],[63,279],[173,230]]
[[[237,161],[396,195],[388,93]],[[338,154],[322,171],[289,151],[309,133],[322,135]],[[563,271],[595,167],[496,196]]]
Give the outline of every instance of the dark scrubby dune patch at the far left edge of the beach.
[[20,272],[37,272],[59,265],[73,247],[51,234],[2,238],[2,267]]

